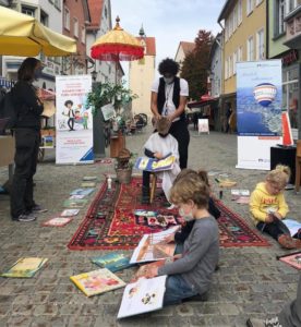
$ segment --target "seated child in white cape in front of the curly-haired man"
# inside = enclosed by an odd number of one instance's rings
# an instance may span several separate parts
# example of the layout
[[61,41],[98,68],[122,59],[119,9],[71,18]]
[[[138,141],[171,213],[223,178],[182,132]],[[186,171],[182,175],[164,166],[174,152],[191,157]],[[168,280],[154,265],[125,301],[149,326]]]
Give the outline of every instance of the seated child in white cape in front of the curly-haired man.
[[[168,155],[176,157],[176,162],[171,170],[157,172],[157,175],[162,179],[162,190],[167,199],[169,199],[169,190],[172,186],[173,180],[181,171],[179,167],[179,150],[177,140],[169,134],[170,121],[162,117],[157,122],[157,132],[153,133],[144,145],[144,154],[148,158],[162,159]],[[142,181],[142,203],[149,203],[149,171],[143,171]]]

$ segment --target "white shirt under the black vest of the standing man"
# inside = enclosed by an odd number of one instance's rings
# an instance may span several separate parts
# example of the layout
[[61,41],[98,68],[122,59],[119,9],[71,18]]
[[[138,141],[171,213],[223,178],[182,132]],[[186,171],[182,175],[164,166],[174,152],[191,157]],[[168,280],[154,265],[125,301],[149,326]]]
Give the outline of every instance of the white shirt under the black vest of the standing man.
[[[157,78],[153,82],[152,85],[152,92],[158,93],[159,90],[159,83],[160,80]],[[169,116],[172,114],[176,111],[176,106],[172,101],[172,97],[173,97],[173,82],[171,84],[165,84],[165,98],[166,98],[166,102],[165,106],[162,108],[162,112],[161,116]],[[188,82],[183,78],[180,78],[180,96],[183,97],[188,97],[189,96],[189,85]],[[180,117],[176,118],[173,121],[179,120]]]

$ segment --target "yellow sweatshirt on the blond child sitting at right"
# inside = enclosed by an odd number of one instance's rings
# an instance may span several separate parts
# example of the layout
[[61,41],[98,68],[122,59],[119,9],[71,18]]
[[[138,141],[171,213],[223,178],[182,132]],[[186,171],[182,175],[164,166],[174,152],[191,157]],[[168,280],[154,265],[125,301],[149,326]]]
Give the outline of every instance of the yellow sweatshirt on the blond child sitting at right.
[[266,191],[265,182],[261,182],[251,194],[250,211],[255,225],[257,225],[260,221],[265,221],[269,213],[278,213],[285,218],[289,209],[284,192],[277,195],[270,195]]

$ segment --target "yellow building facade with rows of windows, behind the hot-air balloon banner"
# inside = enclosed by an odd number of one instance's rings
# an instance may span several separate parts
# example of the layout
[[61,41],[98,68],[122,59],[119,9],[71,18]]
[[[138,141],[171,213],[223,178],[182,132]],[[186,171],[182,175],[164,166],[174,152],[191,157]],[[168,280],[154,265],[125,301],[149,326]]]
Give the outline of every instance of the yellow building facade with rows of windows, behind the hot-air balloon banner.
[[266,1],[228,0],[218,23],[224,23],[221,112],[226,124],[226,102],[236,111],[236,64],[266,59]]

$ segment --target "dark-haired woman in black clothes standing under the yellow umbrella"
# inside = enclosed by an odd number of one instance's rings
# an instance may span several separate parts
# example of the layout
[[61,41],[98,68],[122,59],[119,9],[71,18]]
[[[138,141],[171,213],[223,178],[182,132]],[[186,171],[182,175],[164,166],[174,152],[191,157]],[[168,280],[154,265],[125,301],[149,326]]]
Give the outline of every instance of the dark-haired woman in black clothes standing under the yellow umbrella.
[[44,110],[33,82],[41,74],[41,63],[35,58],[26,58],[17,71],[17,82],[13,88],[13,102],[17,116],[15,124],[15,170],[11,190],[11,216],[16,221],[33,221],[34,211],[41,208],[34,201],[39,140],[40,114]]

